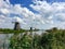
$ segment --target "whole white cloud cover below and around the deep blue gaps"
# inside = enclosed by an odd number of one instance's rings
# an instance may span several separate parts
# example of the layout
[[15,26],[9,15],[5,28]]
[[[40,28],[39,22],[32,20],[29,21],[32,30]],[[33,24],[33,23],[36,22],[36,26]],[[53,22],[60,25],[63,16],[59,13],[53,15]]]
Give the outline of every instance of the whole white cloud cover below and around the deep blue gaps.
[[[61,26],[57,24],[57,21],[62,26],[65,24],[65,3],[64,2],[54,2],[52,4],[47,1],[36,0],[35,4],[30,7],[38,13],[34,13],[27,8],[21,7],[21,4],[12,5],[9,0],[0,0],[0,27],[12,27],[12,21],[15,19],[21,22],[23,27],[29,27],[30,25],[38,25],[38,27],[46,24],[51,26]],[[17,14],[18,16],[11,16],[10,14]],[[56,22],[56,23],[55,23]],[[25,25],[24,25],[25,24]],[[35,27],[34,26],[34,27]],[[61,26],[61,27],[62,27]],[[46,26],[47,27],[47,26]]]

